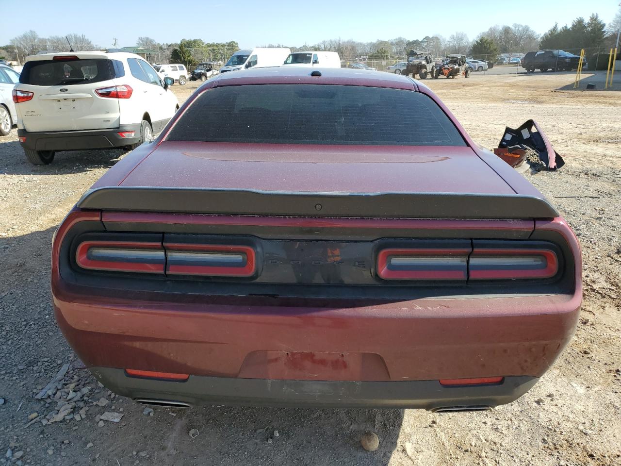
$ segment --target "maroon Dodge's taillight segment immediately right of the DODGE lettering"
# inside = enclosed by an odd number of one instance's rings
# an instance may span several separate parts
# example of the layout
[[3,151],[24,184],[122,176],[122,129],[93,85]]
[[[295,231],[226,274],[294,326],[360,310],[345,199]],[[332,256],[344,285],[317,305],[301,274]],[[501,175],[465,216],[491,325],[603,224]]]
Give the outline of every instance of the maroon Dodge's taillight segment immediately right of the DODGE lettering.
[[466,280],[470,249],[383,249],[378,276],[384,280]]

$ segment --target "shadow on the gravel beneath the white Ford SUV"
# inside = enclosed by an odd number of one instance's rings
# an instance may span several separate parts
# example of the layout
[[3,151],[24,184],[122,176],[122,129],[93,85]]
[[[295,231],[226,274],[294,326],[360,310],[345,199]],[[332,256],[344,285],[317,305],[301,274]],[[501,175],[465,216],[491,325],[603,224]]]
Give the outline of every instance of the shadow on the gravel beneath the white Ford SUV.
[[66,175],[92,168],[112,167],[126,151],[121,149],[71,150],[57,152],[50,165],[28,162],[19,141],[0,142],[0,174],[4,175]]

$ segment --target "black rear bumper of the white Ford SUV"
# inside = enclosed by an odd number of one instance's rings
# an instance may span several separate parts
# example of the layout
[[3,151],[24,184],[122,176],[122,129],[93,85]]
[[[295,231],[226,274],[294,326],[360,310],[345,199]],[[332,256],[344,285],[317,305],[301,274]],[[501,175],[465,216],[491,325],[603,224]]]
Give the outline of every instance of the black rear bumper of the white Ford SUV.
[[[120,137],[119,132],[134,131],[134,137]],[[140,141],[140,123],[121,125],[111,129],[79,131],[28,132],[18,129],[17,135],[26,140],[22,147],[33,150],[84,150],[124,147]]]

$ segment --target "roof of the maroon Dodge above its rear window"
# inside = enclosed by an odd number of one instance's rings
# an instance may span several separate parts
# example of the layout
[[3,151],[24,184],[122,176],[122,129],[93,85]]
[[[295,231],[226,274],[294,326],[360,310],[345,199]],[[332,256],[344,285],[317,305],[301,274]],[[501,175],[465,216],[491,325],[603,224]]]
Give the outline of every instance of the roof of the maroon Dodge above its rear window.
[[[311,75],[317,71],[320,71],[320,76]],[[214,87],[253,84],[322,84],[417,89],[414,80],[394,73],[317,66],[312,70],[297,66],[271,66],[234,71],[217,75],[212,83]]]

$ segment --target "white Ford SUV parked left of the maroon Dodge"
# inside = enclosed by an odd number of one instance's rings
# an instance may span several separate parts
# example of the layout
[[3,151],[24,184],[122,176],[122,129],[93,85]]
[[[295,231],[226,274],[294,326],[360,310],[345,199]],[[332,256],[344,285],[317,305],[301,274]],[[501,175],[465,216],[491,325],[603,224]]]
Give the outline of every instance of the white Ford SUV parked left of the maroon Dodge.
[[19,142],[35,165],[61,150],[135,148],[179,108],[172,83],[134,53],[27,57],[13,89]]

